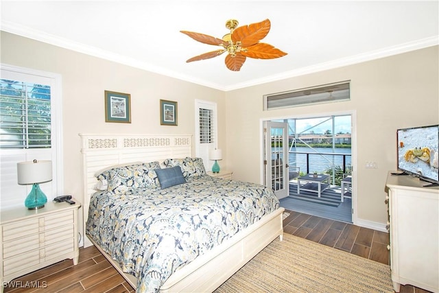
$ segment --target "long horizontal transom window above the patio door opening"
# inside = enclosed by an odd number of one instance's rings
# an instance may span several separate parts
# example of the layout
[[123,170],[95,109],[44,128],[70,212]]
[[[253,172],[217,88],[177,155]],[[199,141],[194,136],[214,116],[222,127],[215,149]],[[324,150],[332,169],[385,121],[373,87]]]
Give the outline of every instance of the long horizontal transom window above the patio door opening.
[[263,110],[346,101],[351,99],[349,88],[349,82],[338,82],[307,89],[264,95]]

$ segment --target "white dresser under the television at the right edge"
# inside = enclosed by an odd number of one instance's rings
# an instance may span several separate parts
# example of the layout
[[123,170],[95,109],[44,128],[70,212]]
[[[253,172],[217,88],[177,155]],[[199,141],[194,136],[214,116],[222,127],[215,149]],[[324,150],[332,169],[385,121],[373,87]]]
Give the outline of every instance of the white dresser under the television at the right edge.
[[390,266],[393,287],[439,292],[439,187],[388,174]]

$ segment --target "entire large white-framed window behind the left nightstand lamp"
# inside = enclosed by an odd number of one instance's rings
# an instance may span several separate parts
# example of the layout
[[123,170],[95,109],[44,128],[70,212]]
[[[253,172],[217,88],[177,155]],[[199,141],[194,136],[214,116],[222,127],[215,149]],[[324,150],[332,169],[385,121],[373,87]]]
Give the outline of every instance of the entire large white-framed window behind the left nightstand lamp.
[[1,209],[24,207],[31,185],[17,183],[16,163],[52,162],[52,180],[40,184],[48,200],[62,194],[61,77],[55,73],[1,65]]

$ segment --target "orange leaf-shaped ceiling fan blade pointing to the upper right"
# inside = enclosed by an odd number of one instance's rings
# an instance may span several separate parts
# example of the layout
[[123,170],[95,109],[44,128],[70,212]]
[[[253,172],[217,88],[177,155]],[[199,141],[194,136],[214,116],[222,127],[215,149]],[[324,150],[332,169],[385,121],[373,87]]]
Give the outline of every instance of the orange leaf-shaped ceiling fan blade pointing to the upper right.
[[271,23],[269,19],[260,23],[252,23],[237,27],[232,33],[232,41],[235,44],[241,42],[241,47],[249,47],[259,42],[270,32]]

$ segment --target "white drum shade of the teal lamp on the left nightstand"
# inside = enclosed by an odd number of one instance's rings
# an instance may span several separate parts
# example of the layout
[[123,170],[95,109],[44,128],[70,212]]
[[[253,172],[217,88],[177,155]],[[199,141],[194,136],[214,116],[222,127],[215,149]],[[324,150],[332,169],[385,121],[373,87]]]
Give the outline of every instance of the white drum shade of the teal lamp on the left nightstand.
[[19,184],[43,183],[52,180],[52,161],[21,162],[16,164]]

